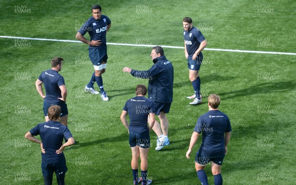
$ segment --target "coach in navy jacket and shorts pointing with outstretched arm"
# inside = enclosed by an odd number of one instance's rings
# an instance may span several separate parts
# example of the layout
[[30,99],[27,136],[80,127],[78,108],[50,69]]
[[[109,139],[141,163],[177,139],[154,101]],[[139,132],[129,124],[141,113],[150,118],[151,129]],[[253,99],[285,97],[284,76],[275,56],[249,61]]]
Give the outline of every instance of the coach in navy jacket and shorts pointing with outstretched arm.
[[158,115],[161,125],[160,128],[159,123],[155,121],[152,128],[158,136],[155,150],[159,151],[170,144],[166,113],[169,113],[173,101],[174,68],[164,56],[161,46],[153,47],[150,57],[154,64],[147,71],[137,71],[128,67],[124,67],[122,71],[129,72],[134,77],[149,79],[148,97],[154,101],[155,115]]

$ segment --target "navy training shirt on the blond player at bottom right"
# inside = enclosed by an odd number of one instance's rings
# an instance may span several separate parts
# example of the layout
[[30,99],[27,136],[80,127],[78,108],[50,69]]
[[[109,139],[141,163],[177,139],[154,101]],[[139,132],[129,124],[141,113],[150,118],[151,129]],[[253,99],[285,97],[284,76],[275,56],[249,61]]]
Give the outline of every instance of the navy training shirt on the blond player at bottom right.
[[202,133],[199,152],[207,157],[220,158],[225,156],[224,134],[231,132],[231,125],[226,114],[219,110],[211,110],[201,115],[194,130]]

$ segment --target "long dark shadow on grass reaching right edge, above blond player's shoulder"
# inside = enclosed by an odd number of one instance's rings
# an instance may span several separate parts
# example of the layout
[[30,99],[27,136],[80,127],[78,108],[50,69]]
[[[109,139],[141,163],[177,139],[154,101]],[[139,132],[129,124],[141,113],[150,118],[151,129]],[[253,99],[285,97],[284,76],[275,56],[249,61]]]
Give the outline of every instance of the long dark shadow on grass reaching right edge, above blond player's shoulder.
[[232,91],[232,92],[222,92],[220,93],[221,99],[229,99],[240,96],[254,95],[254,94],[264,94],[270,92],[287,92],[292,91],[296,87],[296,82],[286,81],[286,82],[266,82],[261,83],[256,86]]

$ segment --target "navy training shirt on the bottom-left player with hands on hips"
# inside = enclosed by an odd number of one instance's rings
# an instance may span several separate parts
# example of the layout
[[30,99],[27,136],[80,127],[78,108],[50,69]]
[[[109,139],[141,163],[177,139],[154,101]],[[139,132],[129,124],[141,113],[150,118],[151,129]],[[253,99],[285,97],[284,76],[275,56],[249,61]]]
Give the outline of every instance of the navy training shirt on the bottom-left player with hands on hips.
[[63,145],[64,137],[68,140],[73,137],[67,126],[55,121],[39,123],[30,130],[33,136],[40,135],[45,154],[41,153],[44,163],[56,163],[65,158],[64,153],[56,154]]

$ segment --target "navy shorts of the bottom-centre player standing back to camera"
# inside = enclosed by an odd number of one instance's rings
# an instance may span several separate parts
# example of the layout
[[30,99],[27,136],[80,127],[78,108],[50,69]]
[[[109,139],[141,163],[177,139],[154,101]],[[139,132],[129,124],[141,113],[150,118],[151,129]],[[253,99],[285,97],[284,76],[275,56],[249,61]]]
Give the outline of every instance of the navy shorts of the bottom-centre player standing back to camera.
[[129,143],[131,147],[138,145],[141,148],[147,149],[150,148],[150,136],[149,130],[138,133],[132,130],[129,130]]

